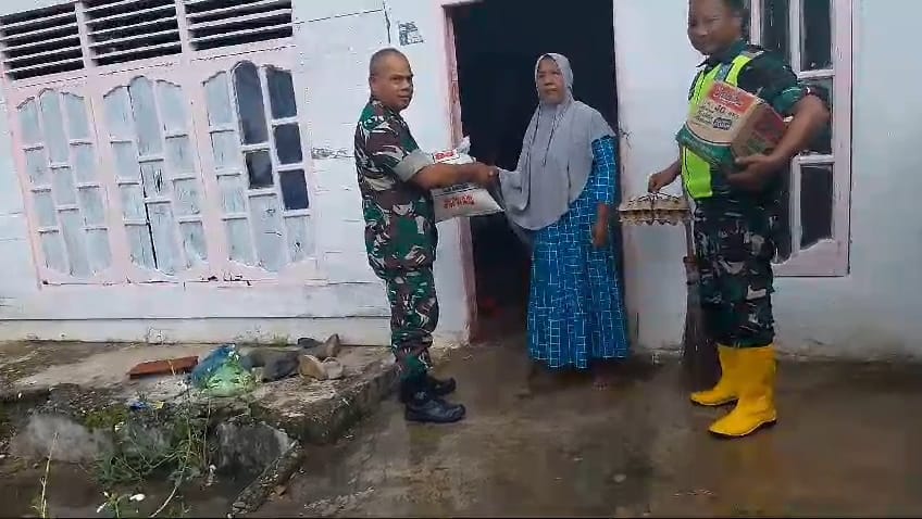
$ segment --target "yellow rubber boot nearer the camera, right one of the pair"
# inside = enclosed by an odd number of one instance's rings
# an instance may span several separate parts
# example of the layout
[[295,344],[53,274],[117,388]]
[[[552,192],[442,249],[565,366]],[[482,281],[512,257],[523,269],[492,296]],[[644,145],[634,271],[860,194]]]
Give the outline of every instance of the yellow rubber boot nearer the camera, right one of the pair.
[[774,347],[743,347],[736,355],[739,401],[730,414],[709,428],[720,436],[745,436],[777,420]]

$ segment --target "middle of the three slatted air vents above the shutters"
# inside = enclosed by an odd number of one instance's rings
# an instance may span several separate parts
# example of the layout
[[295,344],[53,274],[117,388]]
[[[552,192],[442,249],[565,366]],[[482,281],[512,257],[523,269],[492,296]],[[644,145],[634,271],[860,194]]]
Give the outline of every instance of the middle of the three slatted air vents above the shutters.
[[89,48],[98,65],[178,54],[175,0],[87,0]]

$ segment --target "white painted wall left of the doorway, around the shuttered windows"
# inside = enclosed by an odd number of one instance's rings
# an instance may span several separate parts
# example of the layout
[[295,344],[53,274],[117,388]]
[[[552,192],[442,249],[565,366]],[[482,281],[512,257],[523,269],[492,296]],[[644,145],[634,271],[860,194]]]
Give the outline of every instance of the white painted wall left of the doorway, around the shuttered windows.
[[[59,3],[11,0],[0,14]],[[445,27],[433,7],[381,0],[296,0],[299,67],[306,77],[299,103],[309,113],[312,149],[351,154],[356,119],[367,100],[370,54],[397,41],[397,24],[415,20],[425,43],[407,49],[416,65],[419,97],[408,118],[423,148],[449,144]],[[385,9],[387,8],[387,14]],[[23,194],[11,159],[7,106],[0,116],[0,340],[212,342],[276,341],[340,333],[347,342],[387,344],[388,308],[383,284],[367,266],[360,198],[351,156],[313,161],[311,204],[317,218],[319,276],[303,286],[273,283],[121,284],[40,287],[34,267]],[[457,223],[443,224],[437,287],[441,321],[437,341],[468,339],[466,289]]]

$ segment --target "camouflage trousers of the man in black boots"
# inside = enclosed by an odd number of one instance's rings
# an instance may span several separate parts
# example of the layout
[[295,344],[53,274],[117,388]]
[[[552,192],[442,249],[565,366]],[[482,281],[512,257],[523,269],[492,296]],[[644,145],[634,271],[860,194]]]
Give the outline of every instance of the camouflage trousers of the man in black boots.
[[390,303],[390,347],[402,379],[425,376],[428,349],[438,324],[438,300],[432,267],[378,270]]

